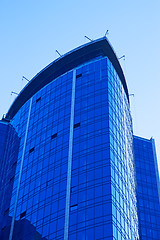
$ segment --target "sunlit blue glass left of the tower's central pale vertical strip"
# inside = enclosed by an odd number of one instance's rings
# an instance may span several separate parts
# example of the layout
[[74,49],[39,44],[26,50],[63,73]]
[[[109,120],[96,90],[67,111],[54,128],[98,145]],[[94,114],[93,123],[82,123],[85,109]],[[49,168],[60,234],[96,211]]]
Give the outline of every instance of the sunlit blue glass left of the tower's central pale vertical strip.
[[[58,239],[64,234],[72,75],[67,73],[36,93],[31,108],[16,221],[23,216],[47,239]],[[13,214],[28,109],[27,102],[13,120],[21,144],[10,216]]]

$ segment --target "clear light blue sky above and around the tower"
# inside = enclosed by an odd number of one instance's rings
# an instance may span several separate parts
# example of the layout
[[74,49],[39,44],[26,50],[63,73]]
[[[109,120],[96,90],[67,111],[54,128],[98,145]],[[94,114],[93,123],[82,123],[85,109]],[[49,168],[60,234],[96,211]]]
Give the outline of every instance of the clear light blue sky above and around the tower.
[[156,140],[160,165],[160,1],[1,0],[0,117],[37,72],[85,43],[85,35],[109,41],[120,57],[136,135]]

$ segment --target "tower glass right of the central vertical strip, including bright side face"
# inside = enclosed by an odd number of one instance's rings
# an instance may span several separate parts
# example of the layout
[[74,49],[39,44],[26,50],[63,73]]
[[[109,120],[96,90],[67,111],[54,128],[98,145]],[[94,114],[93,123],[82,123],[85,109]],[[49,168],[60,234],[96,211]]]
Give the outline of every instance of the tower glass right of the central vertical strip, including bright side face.
[[77,76],[69,239],[138,239],[132,121],[121,81],[107,58]]

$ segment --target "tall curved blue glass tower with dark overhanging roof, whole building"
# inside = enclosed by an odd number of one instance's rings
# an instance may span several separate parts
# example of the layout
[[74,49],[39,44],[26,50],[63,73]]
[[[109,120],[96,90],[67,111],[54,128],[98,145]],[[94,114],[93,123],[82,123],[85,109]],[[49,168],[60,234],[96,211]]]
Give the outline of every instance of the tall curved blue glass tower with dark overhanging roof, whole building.
[[106,38],[44,68],[0,126],[1,236],[139,239],[129,94]]

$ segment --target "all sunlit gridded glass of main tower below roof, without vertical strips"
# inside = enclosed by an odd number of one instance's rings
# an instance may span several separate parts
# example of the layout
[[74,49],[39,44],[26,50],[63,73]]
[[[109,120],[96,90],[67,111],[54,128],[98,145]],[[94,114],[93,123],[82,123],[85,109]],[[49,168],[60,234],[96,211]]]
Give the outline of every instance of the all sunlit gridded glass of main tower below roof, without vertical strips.
[[[66,204],[73,73],[33,96],[16,221],[45,239],[62,240]],[[110,61],[77,68],[69,240],[138,238],[129,103]],[[12,124],[21,138],[12,216],[29,102]],[[27,237],[27,235],[26,235]]]

